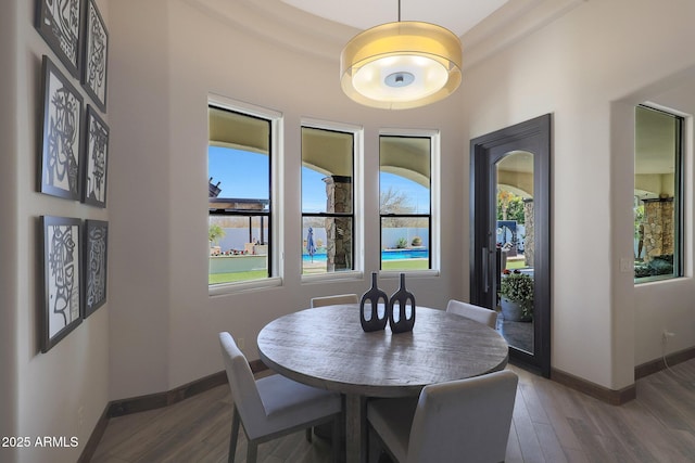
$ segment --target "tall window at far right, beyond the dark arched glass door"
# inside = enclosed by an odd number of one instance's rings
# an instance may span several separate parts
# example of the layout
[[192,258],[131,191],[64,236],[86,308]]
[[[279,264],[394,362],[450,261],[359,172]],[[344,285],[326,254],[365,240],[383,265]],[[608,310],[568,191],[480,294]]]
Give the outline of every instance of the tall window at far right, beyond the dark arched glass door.
[[635,110],[635,283],[683,275],[683,118]]

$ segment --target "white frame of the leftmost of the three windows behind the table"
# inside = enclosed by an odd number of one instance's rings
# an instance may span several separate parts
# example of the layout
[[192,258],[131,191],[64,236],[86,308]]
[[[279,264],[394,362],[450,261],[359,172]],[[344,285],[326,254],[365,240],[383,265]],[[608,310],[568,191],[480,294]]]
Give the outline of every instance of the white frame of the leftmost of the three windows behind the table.
[[[282,258],[285,255],[283,241],[279,236],[283,236],[285,214],[283,204],[281,203],[280,192],[282,191],[283,180],[281,172],[283,171],[283,156],[280,153],[283,146],[283,115],[282,113],[256,106],[250,103],[240,102],[227,97],[218,94],[207,95],[207,108],[216,107],[223,111],[230,111],[249,117],[254,117],[268,121],[269,124],[269,205],[268,205],[268,276],[258,280],[248,280],[240,282],[227,282],[218,284],[208,284],[208,296],[219,296],[225,294],[233,294],[243,291],[255,291],[282,285]],[[208,120],[210,124],[210,120]],[[207,141],[210,146],[210,137]],[[207,156],[207,152],[206,152]],[[210,172],[210,170],[208,170]],[[211,214],[208,207],[208,222],[211,216],[257,216],[258,214]],[[208,273],[210,274],[210,273]]]

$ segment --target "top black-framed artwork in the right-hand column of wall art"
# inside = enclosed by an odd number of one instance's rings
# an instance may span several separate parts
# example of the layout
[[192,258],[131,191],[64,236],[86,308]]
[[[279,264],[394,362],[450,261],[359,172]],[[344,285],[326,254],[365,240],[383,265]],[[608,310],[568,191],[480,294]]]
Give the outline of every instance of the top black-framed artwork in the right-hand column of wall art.
[[94,0],[88,0],[86,8],[81,82],[94,104],[105,113],[109,30]]

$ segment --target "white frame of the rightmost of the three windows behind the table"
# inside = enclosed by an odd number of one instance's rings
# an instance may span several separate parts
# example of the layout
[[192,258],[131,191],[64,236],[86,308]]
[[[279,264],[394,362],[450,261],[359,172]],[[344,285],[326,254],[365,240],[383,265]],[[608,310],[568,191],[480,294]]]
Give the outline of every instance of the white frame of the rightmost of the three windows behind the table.
[[[439,276],[441,274],[441,132],[435,129],[381,129],[379,130],[378,144],[381,137],[400,138],[429,138],[430,139],[430,213],[429,213],[429,269],[427,270],[383,270],[382,259],[379,256],[379,275],[383,278],[397,278],[400,273],[407,273],[414,276]],[[379,177],[381,175],[381,152],[379,151],[378,162]],[[394,217],[393,215],[381,214],[381,181],[378,188],[379,200],[377,211],[379,215],[379,253],[381,254],[382,243],[382,219]],[[397,217],[424,217],[425,215],[399,215]]]

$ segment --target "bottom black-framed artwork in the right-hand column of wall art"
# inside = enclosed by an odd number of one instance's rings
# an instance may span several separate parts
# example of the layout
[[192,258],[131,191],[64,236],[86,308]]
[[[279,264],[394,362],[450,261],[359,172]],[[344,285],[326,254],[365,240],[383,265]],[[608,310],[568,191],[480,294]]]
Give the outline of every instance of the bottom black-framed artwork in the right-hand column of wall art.
[[109,222],[85,221],[85,311],[87,318],[106,301]]

